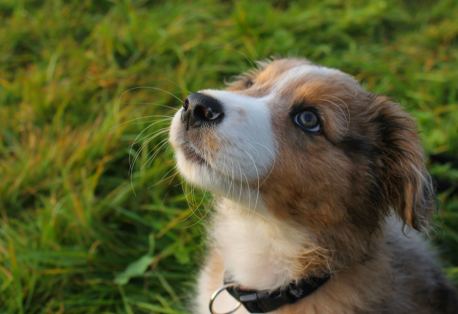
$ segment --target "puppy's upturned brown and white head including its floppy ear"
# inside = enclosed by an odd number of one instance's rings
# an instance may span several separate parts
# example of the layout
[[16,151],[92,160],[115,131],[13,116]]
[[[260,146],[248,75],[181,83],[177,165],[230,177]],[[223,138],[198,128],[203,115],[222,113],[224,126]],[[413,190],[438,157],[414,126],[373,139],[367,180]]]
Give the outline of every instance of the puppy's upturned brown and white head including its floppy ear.
[[392,211],[424,230],[435,207],[402,107],[304,59],[188,95],[170,141],[191,183],[320,235],[348,234],[342,245],[378,230]]

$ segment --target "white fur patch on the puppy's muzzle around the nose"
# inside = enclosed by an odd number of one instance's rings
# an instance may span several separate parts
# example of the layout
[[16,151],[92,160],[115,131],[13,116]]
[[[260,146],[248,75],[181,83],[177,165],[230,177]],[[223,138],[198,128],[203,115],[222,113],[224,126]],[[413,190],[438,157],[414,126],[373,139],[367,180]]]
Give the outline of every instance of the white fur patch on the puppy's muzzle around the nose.
[[175,158],[180,173],[189,182],[205,190],[225,195],[245,204],[260,206],[257,189],[263,178],[272,171],[276,141],[266,104],[257,98],[235,95],[226,91],[202,90],[220,101],[224,118],[208,131],[209,136],[222,143],[218,151],[199,151],[196,143],[188,143],[202,155],[207,164],[190,162],[179,148],[180,109],[170,127],[170,142],[178,146]]

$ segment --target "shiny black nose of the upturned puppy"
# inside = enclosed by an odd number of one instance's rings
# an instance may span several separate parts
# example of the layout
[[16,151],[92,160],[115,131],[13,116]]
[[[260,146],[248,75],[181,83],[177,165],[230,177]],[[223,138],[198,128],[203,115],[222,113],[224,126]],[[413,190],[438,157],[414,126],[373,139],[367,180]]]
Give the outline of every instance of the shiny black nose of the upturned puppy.
[[192,93],[183,101],[181,122],[189,130],[204,124],[219,123],[223,115],[223,107],[217,99],[202,93]]

